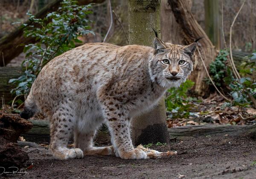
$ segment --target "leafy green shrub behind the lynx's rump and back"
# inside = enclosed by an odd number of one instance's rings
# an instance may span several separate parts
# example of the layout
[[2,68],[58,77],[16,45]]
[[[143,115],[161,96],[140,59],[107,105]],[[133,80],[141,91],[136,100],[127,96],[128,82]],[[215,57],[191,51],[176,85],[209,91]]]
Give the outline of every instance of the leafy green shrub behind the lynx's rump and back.
[[80,42],[77,37],[90,31],[88,25],[92,21],[87,20],[87,14],[92,13],[88,6],[78,6],[76,0],[63,0],[57,12],[48,13],[43,19],[38,19],[30,12],[29,20],[36,25],[25,26],[24,35],[27,38],[35,38],[37,43],[31,43],[24,47],[26,54],[22,66],[26,68],[25,75],[11,79],[17,87],[11,92],[16,95],[27,95],[35,81],[35,78],[50,60],[63,52],[75,47],[75,42]]

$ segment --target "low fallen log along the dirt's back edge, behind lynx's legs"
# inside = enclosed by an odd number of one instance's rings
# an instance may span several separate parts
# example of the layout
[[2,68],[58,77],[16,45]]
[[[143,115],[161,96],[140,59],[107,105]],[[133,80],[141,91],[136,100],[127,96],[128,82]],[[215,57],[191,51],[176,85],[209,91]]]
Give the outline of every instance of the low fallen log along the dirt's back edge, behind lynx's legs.
[[[47,136],[49,135],[49,121],[46,120],[29,120],[33,124],[33,128],[26,132],[26,137],[32,136]],[[170,139],[188,139],[191,137],[200,136],[250,136],[256,138],[256,124],[255,125],[198,125],[198,126],[183,126],[169,128]],[[98,141],[104,137],[109,136],[107,130],[101,130],[98,134]],[[25,138],[26,139],[26,138]],[[105,142],[107,138],[104,139]]]

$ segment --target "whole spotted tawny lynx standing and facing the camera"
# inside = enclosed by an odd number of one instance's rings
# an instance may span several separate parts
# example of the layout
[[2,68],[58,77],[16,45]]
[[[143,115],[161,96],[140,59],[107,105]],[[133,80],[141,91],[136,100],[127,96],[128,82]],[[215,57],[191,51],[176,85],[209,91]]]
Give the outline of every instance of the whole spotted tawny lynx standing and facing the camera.
[[[21,117],[41,112],[49,118],[49,150],[57,159],[145,159],[146,153],[132,144],[130,121],[186,80],[197,48],[196,43],[174,45],[157,37],[153,44],[87,43],[54,58],[33,83]],[[113,145],[93,147],[93,136],[103,123]],[[72,134],[75,148],[69,149]]]

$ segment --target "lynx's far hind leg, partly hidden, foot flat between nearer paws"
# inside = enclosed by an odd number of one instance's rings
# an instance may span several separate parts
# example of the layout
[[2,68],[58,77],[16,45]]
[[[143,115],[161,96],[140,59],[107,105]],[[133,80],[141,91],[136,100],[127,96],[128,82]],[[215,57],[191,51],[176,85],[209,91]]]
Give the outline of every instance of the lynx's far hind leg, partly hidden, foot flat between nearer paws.
[[114,156],[113,146],[93,147],[93,136],[96,131],[79,132],[75,131],[75,147],[83,150],[84,155]]

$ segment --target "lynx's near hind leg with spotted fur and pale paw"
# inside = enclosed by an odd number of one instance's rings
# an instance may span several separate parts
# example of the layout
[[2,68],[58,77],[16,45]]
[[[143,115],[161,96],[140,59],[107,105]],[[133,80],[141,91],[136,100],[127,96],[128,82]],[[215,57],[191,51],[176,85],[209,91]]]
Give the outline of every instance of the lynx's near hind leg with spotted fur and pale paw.
[[56,159],[81,159],[83,151],[79,148],[67,148],[68,141],[73,133],[74,118],[70,115],[58,113],[51,120],[51,143],[49,150]]

